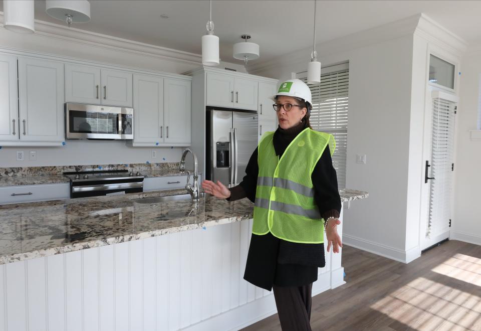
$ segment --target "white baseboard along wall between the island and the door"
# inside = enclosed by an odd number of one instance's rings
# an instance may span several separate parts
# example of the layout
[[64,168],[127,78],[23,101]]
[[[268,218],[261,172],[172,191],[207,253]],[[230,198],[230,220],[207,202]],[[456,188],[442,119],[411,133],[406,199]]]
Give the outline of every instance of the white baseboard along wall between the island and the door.
[[388,259],[402,263],[409,263],[412,260],[421,256],[421,251],[418,246],[405,251],[395,247],[390,247],[373,241],[347,235],[345,233],[343,233],[342,239],[343,243],[348,246],[362,249],[363,251],[384,256]]

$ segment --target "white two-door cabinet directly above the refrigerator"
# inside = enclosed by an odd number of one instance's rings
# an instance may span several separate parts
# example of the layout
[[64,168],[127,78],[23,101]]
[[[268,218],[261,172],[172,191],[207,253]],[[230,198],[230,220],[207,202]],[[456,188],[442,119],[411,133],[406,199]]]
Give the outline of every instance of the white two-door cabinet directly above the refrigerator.
[[231,75],[207,73],[208,106],[258,110],[258,81]]

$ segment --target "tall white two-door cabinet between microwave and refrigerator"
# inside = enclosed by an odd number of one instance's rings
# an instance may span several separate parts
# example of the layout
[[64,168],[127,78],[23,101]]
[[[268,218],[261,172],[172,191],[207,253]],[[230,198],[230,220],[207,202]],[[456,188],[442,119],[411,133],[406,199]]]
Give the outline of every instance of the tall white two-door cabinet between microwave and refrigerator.
[[134,75],[134,146],[190,145],[190,85]]

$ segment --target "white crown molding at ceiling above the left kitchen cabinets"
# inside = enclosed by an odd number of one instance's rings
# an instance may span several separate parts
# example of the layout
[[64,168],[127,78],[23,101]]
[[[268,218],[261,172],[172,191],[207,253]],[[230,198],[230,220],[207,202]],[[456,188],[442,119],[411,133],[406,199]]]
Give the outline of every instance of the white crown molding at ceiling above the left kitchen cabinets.
[[[0,29],[5,29],[4,13],[0,12]],[[133,40],[117,38],[76,28],[68,28],[63,25],[45,21],[35,20],[35,35],[80,43],[103,49],[115,50],[118,52],[131,53],[143,56],[156,57],[163,60],[170,60],[188,64],[198,65],[201,63],[201,55],[171,48],[150,45]]]

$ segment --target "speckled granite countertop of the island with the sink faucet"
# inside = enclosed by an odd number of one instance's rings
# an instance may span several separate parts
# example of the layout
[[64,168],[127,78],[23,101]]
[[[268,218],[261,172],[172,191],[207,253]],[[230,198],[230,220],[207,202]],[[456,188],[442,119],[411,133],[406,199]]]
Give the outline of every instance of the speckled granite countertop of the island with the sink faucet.
[[[134,200],[184,193],[180,189],[0,205],[0,264],[252,218],[254,204],[248,199]],[[340,194],[343,202],[368,196],[355,190]]]

